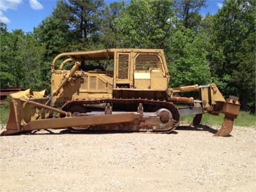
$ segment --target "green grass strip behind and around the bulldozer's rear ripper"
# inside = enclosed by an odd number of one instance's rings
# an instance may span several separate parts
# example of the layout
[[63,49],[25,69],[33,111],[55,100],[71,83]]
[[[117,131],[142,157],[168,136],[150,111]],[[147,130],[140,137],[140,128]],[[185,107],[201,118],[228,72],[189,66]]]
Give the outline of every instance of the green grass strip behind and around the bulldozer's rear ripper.
[[[204,114],[201,124],[211,125],[211,126],[221,126],[224,121],[223,114],[219,114],[218,116]],[[193,121],[194,115],[183,116],[180,118],[180,121],[183,123],[191,123]],[[239,111],[239,115],[234,122],[235,126],[245,126],[245,127],[256,127],[256,116],[251,115],[246,111]]]

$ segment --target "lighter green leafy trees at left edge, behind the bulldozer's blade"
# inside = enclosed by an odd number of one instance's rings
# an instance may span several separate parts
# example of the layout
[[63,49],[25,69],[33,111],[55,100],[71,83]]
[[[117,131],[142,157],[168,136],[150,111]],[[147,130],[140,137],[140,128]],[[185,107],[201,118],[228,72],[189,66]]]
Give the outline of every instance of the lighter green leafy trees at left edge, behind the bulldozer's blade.
[[0,49],[1,87],[42,89],[45,79],[41,76],[41,62],[45,50],[33,34],[1,30]]

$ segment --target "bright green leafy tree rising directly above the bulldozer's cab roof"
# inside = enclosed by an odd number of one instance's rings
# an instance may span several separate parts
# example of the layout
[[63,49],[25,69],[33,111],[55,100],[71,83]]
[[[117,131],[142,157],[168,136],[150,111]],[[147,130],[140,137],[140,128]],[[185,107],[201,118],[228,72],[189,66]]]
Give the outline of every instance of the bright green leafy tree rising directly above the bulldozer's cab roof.
[[124,47],[162,48],[174,24],[173,2],[132,0],[116,20]]

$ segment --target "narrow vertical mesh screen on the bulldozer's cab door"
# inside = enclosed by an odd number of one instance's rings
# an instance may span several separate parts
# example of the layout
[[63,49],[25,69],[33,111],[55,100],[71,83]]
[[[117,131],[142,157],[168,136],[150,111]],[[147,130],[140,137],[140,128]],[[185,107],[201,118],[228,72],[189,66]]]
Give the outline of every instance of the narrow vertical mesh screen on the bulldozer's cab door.
[[118,79],[128,79],[129,72],[129,55],[118,55]]

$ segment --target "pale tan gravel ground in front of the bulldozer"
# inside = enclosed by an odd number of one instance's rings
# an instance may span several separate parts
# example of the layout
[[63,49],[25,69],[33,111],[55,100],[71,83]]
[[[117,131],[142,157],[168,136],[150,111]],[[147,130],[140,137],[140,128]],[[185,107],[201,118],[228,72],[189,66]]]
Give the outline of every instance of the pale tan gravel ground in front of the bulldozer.
[[0,138],[0,191],[256,191],[256,127]]

